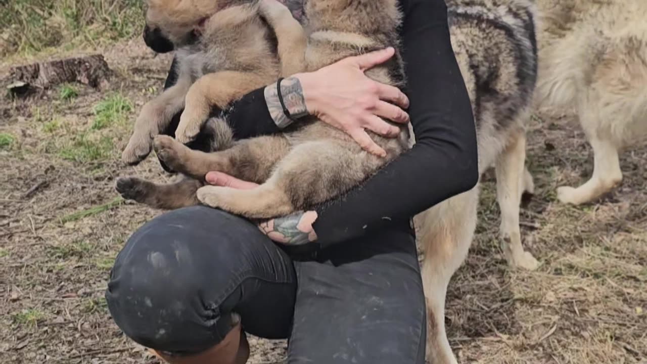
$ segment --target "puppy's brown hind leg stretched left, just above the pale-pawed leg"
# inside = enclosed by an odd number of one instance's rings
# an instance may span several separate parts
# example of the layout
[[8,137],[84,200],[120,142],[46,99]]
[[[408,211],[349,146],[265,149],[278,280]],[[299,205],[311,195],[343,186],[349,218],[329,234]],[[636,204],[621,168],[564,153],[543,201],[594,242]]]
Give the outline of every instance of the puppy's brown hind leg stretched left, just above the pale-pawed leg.
[[204,153],[192,150],[168,135],[158,135],[153,147],[170,168],[201,181],[208,172],[218,171],[262,183],[276,162],[289,152],[290,145],[280,136],[258,137],[236,142],[232,148],[221,152]]

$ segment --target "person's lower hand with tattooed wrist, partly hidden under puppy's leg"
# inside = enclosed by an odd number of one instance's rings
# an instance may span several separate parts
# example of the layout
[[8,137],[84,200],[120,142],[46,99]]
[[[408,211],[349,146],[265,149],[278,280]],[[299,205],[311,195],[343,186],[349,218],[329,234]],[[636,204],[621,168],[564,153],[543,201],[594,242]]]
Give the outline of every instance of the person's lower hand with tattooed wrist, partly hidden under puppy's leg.
[[[249,190],[258,184],[234,178],[222,172],[209,172],[205,177],[210,185]],[[274,218],[258,224],[259,229],[274,242],[285,245],[302,245],[314,242],[313,223],[317,219],[316,211],[298,211],[288,216]]]

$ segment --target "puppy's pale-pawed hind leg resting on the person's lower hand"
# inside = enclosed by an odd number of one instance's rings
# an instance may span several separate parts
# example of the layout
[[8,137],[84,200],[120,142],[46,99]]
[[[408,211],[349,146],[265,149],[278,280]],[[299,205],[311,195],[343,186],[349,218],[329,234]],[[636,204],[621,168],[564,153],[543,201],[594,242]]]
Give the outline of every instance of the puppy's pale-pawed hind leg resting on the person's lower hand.
[[247,218],[275,218],[346,192],[377,170],[383,163],[379,159],[340,141],[305,142],[276,165],[263,185],[251,190],[205,186],[198,199]]

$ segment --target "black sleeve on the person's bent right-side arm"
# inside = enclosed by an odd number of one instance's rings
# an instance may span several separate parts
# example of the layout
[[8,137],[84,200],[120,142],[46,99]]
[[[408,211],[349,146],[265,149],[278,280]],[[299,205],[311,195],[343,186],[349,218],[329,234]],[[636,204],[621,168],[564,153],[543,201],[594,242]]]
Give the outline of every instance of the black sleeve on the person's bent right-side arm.
[[476,128],[450,43],[444,0],[402,0],[402,54],[416,144],[361,187],[316,209],[322,246],[343,242],[465,192],[478,180]]

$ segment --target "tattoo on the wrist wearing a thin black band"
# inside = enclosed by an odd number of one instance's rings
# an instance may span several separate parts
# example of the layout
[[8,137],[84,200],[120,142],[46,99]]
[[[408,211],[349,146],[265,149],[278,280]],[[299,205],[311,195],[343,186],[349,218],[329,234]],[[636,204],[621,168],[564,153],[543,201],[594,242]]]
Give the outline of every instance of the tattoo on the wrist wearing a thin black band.
[[[292,120],[283,112],[278,91],[276,82],[265,87],[265,102],[267,103],[267,109],[270,111],[272,120],[274,120],[276,126],[283,129],[292,124]],[[298,119],[309,114],[308,109],[305,107],[303,89],[298,78],[289,77],[281,81],[281,97],[283,97],[283,104],[285,104],[285,108],[288,109],[293,119]]]

